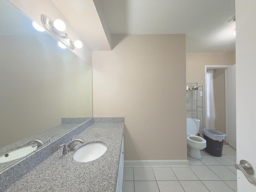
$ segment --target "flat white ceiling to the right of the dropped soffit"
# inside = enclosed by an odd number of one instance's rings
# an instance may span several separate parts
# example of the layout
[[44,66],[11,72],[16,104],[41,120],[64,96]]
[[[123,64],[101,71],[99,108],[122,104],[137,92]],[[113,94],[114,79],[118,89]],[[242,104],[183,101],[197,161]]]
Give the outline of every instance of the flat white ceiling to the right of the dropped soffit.
[[[186,34],[186,52],[235,51],[235,0],[101,0],[111,34]],[[231,20],[230,22],[228,22]]]

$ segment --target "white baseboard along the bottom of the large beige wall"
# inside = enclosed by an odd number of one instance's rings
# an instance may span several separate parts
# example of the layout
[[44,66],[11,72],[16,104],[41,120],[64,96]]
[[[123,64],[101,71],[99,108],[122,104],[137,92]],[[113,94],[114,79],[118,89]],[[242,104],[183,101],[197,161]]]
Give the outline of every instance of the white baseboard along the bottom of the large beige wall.
[[125,160],[125,167],[182,167],[188,166],[188,160]]

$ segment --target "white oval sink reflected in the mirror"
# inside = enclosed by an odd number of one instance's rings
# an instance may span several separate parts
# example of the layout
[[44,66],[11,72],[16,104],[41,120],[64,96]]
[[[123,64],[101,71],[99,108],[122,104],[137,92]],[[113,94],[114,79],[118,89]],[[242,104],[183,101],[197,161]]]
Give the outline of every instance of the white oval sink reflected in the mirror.
[[22,157],[32,153],[33,151],[36,150],[36,147],[32,147],[32,146],[34,146],[34,144],[25,145],[25,146],[10,150],[4,154],[1,154],[0,163],[4,163],[4,162],[12,161],[12,160],[15,160],[18,158],[22,158]]

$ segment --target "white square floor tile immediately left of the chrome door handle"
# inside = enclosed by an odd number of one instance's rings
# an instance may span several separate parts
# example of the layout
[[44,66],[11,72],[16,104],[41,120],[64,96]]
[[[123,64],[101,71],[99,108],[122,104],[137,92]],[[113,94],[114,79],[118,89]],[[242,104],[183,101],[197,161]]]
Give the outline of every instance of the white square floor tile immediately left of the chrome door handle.
[[225,166],[208,166],[219,178],[226,181],[236,181],[236,174]]

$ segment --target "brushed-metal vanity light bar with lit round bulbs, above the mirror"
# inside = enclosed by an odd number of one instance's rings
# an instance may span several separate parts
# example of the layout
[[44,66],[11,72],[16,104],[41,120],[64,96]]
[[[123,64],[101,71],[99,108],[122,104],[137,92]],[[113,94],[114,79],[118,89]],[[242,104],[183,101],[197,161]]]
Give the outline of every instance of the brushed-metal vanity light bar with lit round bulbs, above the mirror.
[[68,34],[63,32],[66,29],[66,25],[62,20],[56,20],[57,22],[56,21],[53,22],[46,15],[41,15],[41,21],[44,27],[46,28],[46,30],[70,50],[73,50],[75,46],[76,48],[82,48],[83,44],[81,41],[76,40],[75,42],[73,42],[68,37]]

